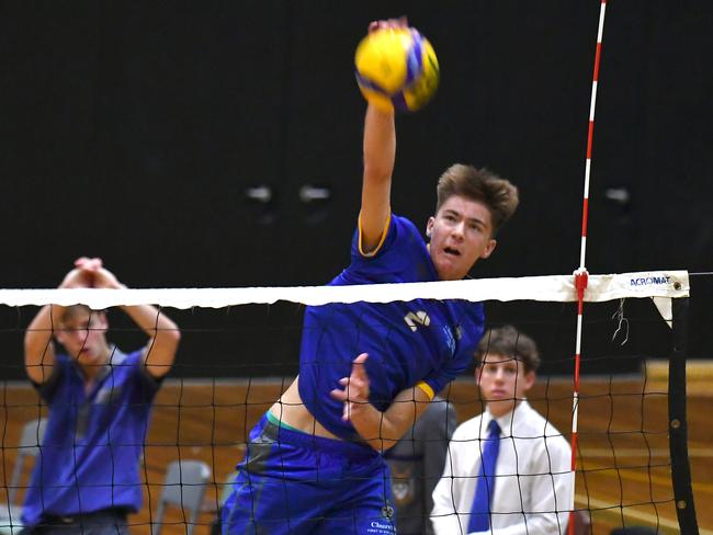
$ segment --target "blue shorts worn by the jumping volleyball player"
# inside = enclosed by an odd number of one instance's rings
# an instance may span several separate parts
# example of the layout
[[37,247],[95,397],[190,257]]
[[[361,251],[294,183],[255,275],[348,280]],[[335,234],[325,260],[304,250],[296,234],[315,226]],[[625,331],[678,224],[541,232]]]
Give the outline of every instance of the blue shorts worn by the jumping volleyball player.
[[222,524],[224,535],[395,535],[388,466],[370,446],[287,430],[263,416]]

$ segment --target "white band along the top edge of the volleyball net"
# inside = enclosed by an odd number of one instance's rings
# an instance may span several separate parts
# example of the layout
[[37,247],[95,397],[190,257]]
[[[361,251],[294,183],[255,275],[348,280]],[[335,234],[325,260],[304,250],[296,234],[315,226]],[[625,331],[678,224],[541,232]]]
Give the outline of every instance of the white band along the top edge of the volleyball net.
[[[645,271],[589,275],[585,301],[599,303],[629,297],[679,298],[688,297],[689,291],[687,271]],[[408,301],[418,298],[566,303],[576,301],[577,293],[574,275],[360,286],[0,289],[0,304],[11,307],[82,304],[98,310],[116,306],[146,304],[190,309],[195,307],[224,308],[248,304],[271,305],[280,300],[315,306],[327,303]]]

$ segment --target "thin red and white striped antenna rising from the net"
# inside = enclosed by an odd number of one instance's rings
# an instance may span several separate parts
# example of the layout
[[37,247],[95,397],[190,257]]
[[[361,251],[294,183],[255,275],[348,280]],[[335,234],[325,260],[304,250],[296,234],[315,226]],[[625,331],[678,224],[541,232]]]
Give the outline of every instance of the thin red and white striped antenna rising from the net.
[[571,408],[571,492],[573,512],[569,513],[568,533],[574,535],[574,494],[575,476],[577,469],[577,417],[579,413],[579,360],[581,355],[581,326],[584,317],[585,291],[589,282],[585,259],[587,255],[587,217],[589,215],[589,175],[591,172],[591,146],[595,137],[595,109],[597,106],[597,83],[599,81],[599,59],[601,57],[601,42],[604,33],[604,13],[607,0],[601,0],[599,9],[599,29],[597,32],[597,53],[595,54],[595,73],[591,82],[591,100],[589,104],[589,128],[587,133],[587,159],[585,161],[585,193],[581,209],[581,248],[579,252],[579,269],[575,271],[575,289],[577,291],[577,339],[575,342],[575,385]]

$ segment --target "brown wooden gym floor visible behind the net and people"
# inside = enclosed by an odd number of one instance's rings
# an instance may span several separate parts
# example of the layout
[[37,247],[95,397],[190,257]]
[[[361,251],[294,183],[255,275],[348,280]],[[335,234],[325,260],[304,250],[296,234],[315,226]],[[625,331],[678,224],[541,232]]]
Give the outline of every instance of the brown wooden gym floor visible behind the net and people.
[[[592,533],[609,534],[622,525],[658,526],[661,534],[679,533],[670,483],[666,383],[660,374],[649,382],[632,378],[586,379],[580,387],[579,455],[576,505],[591,513]],[[658,377],[658,378],[657,378]],[[652,380],[653,379],[653,380]],[[688,396],[689,453],[701,534],[713,534],[713,430],[709,428],[713,382],[691,384]],[[148,535],[150,509],[161,492],[165,468],[179,457],[205,460],[213,470],[204,512],[195,535],[207,535],[224,483],[245,452],[252,424],[288,384],[280,380],[168,380],[157,396],[144,456],[144,509],[133,515],[132,533]],[[45,413],[31,387],[0,384],[2,463],[0,502],[7,501],[21,426]],[[480,411],[473,382],[451,386],[450,400],[459,421]],[[571,382],[540,378],[531,403],[569,437]],[[23,478],[26,483],[29,468]],[[149,508],[149,503],[151,508]],[[169,511],[162,533],[184,533],[180,511]]]

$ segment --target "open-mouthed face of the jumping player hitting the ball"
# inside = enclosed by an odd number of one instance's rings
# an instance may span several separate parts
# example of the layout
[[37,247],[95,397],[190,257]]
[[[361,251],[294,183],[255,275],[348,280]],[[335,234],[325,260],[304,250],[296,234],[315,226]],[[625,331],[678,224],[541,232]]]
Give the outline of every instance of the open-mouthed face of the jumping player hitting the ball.
[[490,209],[460,195],[449,197],[438,214],[429,218],[427,234],[431,237],[431,260],[441,281],[463,278],[496,246]]

